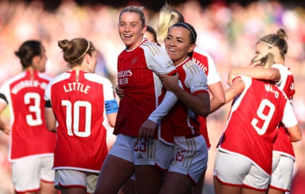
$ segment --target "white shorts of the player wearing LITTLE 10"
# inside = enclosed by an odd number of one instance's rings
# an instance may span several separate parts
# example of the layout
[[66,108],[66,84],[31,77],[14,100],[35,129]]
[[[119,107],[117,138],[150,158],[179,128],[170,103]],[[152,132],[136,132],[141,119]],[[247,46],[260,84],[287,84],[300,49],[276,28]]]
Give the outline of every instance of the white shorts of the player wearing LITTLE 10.
[[72,187],[85,189],[87,193],[94,193],[97,186],[98,173],[88,173],[75,170],[56,170],[54,186],[56,189]]

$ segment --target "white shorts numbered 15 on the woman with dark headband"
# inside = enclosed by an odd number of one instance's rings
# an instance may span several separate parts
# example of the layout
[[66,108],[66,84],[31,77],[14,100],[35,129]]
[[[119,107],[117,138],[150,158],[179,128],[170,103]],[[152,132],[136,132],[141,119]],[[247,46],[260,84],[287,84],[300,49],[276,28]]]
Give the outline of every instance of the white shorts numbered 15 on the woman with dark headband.
[[174,137],[174,151],[169,171],[187,175],[194,186],[207,168],[208,148],[204,136]]

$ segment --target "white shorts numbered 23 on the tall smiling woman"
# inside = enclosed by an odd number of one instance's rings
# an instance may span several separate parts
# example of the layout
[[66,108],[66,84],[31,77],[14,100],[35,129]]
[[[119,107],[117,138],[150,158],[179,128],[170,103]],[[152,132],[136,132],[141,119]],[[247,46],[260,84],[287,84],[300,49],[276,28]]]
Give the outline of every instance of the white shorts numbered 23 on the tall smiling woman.
[[173,146],[166,145],[158,139],[148,141],[137,137],[117,135],[117,140],[109,154],[123,158],[134,165],[154,165],[162,171],[169,169]]

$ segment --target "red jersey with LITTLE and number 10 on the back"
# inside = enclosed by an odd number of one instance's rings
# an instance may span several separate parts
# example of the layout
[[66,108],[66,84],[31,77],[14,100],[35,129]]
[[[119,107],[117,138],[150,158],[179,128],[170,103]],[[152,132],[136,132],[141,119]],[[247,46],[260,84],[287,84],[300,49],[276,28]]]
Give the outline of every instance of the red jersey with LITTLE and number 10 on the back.
[[105,101],[113,99],[111,82],[95,73],[66,71],[50,81],[45,100],[58,121],[53,169],[99,173],[108,154]]

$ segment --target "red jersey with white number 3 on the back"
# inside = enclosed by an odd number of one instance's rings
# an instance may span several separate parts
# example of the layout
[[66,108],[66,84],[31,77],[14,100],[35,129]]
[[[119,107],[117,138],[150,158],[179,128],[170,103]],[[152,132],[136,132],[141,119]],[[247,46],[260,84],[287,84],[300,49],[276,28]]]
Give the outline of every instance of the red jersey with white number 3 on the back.
[[45,126],[45,88],[49,77],[38,71],[23,71],[5,82],[0,103],[10,107],[9,160],[53,156],[56,135]]

